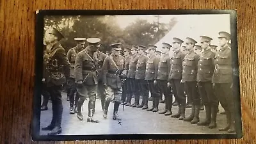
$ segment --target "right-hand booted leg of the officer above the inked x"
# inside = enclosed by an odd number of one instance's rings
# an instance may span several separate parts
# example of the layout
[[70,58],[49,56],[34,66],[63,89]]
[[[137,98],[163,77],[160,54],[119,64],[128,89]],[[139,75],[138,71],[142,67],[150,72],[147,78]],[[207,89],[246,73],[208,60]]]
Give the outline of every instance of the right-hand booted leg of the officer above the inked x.
[[114,104],[114,111],[113,111],[113,120],[121,120],[121,118],[118,116],[118,108],[121,103],[122,98],[122,88],[116,88],[114,90],[114,97],[115,97],[115,104]]

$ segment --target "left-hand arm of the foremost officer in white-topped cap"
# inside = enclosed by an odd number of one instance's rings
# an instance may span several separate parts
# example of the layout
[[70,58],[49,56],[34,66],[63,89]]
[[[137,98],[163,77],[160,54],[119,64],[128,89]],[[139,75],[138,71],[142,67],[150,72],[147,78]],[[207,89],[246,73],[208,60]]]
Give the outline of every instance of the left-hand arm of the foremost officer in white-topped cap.
[[75,61],[76,81],[83,81],[83,55],[78,53]]

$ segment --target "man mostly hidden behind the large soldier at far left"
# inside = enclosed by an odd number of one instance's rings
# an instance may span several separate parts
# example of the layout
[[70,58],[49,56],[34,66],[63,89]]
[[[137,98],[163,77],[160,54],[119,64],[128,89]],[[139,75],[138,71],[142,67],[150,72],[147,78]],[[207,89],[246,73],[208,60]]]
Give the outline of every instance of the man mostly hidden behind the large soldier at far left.
[[47,52],[47,44],[44,42],[44,72],[43,72],[43,86],[42,86],[42,96],[43,102],[41,106],[41,111],[46,111],[48,109],[48,102],[49,102],[49,92],[47,91],[47,85],[45,83],[45,79],[47,78],[47,61],[48,60],[48,52]]

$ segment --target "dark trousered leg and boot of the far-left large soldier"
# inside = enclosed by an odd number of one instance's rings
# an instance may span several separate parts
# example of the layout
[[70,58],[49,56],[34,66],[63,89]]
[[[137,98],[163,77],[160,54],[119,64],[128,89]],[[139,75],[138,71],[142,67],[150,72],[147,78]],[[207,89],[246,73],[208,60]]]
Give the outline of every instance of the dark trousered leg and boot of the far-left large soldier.
[[54,107],[54,114],[56,115],[55,127],[48,133],[48,135],[56,135],[61,133],[61,120],[63,113],[63,106],[61,100],[62,86],[54,86],[51,90],[52,107]]

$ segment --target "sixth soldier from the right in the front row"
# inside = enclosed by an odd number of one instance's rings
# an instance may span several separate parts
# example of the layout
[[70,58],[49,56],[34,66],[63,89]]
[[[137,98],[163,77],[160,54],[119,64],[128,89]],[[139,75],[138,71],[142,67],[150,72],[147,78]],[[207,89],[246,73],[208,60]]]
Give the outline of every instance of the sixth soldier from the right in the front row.
[[159,57],[155,56],[156,45],[148,45],[149,58],[146,65],[145,80],[148,83],[148,89],[150,90],[152,97],[152,108],[148,108],[147,111],[158,111],[159,105],[159,87],[154,85],[154,80],[157,78],[157,70],[159,64]]

